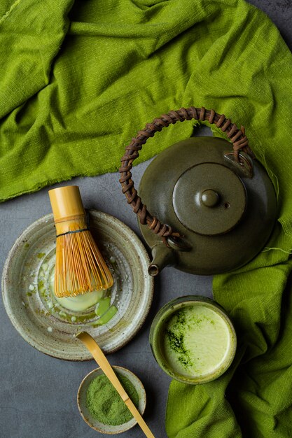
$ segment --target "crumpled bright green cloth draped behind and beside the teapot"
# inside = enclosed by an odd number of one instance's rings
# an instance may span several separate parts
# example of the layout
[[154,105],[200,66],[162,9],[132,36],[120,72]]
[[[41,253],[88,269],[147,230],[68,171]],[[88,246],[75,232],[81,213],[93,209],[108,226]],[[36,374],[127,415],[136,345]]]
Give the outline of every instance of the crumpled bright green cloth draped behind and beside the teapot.
[[[0,13],[1,201],[116,171],[137,129],[170,109],[214,108],[246,127],[277,192],[277,225],[269,249],[214,278],[237,357],[212,383],[172,382],[166,430],[291,437],[292,57],[276,27],[243,0],[8,0]],[[140,160],[192,131],[162,129]]]

